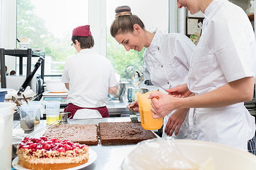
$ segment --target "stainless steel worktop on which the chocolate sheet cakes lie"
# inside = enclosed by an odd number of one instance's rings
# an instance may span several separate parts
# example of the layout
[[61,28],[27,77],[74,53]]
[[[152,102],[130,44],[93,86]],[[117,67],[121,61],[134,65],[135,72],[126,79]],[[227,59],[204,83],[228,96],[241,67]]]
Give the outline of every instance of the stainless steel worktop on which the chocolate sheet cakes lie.
[[[97,124],[99,122],[128,122],[130,117],[113,117],[113,118],[94,118],[87,120],[69,120],[65,124]],[[40,120],[40,123],[35,125],[34,130],[38,130],[46,126],[46,120]],[[20,128],[19,121],[14,121],[14,127]],[[26,131],[25,133],[32,133],[34,130]],[[33,137],[42,137],[44,131],[35,134]],[[123,159],[128,155],[136,145],[114,145],[114,146],[89,146],[97,153],[97,159],[94,163],[83,169],[118,169],[122,164]]]

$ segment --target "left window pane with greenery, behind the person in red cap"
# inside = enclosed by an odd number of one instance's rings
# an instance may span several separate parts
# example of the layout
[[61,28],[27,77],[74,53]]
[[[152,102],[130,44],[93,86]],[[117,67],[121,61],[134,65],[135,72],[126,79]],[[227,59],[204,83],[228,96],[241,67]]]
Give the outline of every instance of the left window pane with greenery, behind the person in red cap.
[[62,74],[67,57],[77,53],[71,46],[72,30],[86,24],[88,0],[17,0],[17,37],[29,37],[30,48],[46,52],[45,75]]

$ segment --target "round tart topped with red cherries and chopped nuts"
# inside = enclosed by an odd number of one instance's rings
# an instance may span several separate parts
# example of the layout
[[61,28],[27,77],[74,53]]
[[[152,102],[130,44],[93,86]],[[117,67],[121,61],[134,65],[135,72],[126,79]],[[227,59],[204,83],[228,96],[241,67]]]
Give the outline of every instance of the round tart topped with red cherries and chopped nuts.
[[24,138],[17,147],[18,164],[28,169],[67,169],[88,162],[89,147],[68,140]]

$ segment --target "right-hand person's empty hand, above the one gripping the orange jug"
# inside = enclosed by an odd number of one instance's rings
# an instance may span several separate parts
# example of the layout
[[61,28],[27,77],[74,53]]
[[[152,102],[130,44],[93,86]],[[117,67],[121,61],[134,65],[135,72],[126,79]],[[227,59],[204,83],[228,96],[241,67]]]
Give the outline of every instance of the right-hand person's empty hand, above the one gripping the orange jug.
[[192,92],[188,90],[187,84],[180,84],[174,88],[166,89],[166,91],[169,93],[168,95],[174,97],[188,97],[192,94]]

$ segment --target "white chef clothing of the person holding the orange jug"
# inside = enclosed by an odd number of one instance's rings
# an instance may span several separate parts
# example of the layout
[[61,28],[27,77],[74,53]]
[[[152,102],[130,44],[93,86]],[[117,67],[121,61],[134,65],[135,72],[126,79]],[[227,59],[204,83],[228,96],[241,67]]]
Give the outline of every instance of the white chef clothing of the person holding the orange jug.
[[[203,32],[193,54],[188,87],[196,95],[226,83],[255,76],[253,28],[242,8],[214,0],[205,10]],[[219,108],[196,108],[197,138],[247,151],[255,120],[243,103]]]

